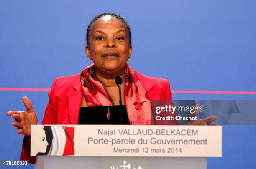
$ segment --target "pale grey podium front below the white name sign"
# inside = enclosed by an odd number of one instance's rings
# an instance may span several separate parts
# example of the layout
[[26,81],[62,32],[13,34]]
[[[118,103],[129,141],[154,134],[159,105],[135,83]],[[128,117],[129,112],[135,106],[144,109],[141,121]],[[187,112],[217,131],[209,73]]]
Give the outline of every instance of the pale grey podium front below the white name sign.
[[[130,164],[130,165],[129,165]],[[125,167],[120,167],[125,165]],[[141,166],[141,168],[139,168]],[[207,157],[38,156],[36,169],[206,169]]]

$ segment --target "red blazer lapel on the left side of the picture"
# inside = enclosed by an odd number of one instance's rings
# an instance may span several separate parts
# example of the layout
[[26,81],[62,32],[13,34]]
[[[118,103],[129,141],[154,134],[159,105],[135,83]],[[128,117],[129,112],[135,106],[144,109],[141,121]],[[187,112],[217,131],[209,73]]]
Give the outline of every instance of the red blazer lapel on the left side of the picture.
[[83,94],[80,77],[72,86],[74,91],[68,93],[70,123],[78,124],[79,111]]

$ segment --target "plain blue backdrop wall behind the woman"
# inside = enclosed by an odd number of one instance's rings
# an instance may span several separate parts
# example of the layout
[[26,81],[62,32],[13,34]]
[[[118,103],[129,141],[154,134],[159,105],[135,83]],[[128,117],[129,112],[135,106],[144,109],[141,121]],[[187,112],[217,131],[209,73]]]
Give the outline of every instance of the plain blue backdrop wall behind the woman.
[[[0,88],[50,88],[80,73],[89,60],[85,30],[97,14],[123,15],[131,25],[130,65],[166,78],[172,90],[256,91],[256,1],[0,1]],[[17,160],[22,136],[6,116],[28,96],[42,120],[44,91],[0,91],[0,159]],[[256,100],[256,95],[182,94],[174,100]],[[255,168],[256,127],[223,126],[223,157],[207,168]],[[33,167],[33,165],[31,165]]]

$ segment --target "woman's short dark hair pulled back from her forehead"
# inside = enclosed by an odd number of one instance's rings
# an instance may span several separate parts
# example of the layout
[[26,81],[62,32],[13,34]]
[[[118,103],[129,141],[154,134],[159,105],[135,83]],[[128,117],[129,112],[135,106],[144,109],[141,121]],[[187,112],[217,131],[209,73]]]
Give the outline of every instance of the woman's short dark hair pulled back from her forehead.
[[125,28],[128,30],[128,34],[129,34],[129,45],[131,45],[131,28],[127,22],[127,20],[125,20],[125,18],[123,18],[122,16],[118,15],[118,14],[115,14],[115,13],[101,13],[97,16],[95,16],[91,22],[89,23],[88,27],[87,27],[87,31],[86,31],[86,42],[87,42],[87,45],[89,45],[89,36],[90,36],[90,28],[92,27],[92,24],[95,23],[96,20],[106,16],[106,15],[110,15],[118,20],[120,20],[124,25],[125,25]]

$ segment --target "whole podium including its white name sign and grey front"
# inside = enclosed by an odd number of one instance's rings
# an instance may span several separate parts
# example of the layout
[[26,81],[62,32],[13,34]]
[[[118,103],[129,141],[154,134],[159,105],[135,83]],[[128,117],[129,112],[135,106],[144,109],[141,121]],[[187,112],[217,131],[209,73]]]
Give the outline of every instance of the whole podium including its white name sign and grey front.
[[31,156],[36,169],[206,169],[222,156],[222,128],[33,125]]

